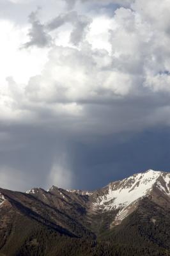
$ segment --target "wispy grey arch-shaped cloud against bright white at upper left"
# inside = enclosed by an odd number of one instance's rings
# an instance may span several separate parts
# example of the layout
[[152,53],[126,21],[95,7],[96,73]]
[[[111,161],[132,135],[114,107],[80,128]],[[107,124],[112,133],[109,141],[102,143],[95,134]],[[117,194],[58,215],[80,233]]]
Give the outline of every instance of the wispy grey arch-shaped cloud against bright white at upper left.
[[66,23],[72,24],[73,26],[70,33],[70,43],[73,45],[79,45],[79,43],[84,40],[86,33],[88,32],[89,24],[91,23],[91,19],[85,15],[77,15],[77,12],[68,12],[55,17],[47,22],[47,24],[42,24],[40,20],[37,19],[39,10],[40,8],[29,15],[31,28],[29,29],[28,36],[30,40],[24,44],[23,47],[50,47],[54,40],[50,35],[50,32],[60,28]]

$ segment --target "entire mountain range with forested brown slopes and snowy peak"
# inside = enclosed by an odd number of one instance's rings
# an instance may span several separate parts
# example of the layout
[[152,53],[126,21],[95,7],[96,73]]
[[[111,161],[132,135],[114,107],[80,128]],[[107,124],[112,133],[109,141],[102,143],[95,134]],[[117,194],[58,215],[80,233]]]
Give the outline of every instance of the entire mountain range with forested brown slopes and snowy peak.
[[96,191],[0,189],[1,255],[170,255],[170,173]]

